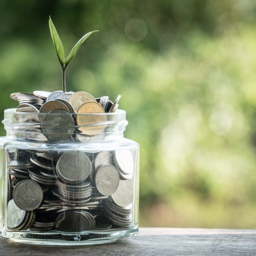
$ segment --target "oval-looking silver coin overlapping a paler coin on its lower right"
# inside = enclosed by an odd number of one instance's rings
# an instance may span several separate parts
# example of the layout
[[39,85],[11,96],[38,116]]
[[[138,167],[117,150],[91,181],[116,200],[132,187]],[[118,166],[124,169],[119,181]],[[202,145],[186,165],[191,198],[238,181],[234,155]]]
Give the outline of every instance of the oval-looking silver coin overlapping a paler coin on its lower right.
[[112,195],[119,185],[119,174],[115,166],[101,166],[95,175],[95,185],[102,195]]

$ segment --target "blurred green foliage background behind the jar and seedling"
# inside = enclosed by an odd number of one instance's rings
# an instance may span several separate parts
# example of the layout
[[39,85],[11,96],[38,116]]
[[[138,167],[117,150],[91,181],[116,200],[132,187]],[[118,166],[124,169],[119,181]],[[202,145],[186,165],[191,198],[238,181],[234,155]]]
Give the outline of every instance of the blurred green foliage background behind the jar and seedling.
[[[256,227],[256,2],[0,1],[0,118],[13,92],[122,95],[140,143],[140,226]],[[1,136],[5,135],[3,125]]]

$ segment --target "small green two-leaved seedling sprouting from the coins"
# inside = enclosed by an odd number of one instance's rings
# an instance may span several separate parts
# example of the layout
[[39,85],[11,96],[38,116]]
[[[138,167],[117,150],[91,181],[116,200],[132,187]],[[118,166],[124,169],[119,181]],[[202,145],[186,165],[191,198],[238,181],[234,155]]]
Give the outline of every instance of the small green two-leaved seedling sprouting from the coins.
[[81,46],[81,44],[94,32],[98,32],[99,30],[94,30],[91,32],[88,32],[87,34],[85,34],[77,43],[76,45],[73,47],[73,49],[70,51],[70,54],[67,55],[67,57],[65,58],[65,52],[64,52],[64,47],[61,43],[61,39],[58,36],[57,30],[55,29],[55,26],[52,23],[52,19],[51,17],[49,17],[49,28],[50,28],[50,32],[51,32],[51,36],[52,36],[52,41],[53,44],[55,46],[56,52],[57,52],[57,56],[58,56],[58,60],[61,63],[61,68],[62,68],[62,90],[63,92],[66,92],[66,68],[67,65],[70,63],[70,61],[73,59],[73,57],[75,56],[76,52],[78,51],[79,47]]

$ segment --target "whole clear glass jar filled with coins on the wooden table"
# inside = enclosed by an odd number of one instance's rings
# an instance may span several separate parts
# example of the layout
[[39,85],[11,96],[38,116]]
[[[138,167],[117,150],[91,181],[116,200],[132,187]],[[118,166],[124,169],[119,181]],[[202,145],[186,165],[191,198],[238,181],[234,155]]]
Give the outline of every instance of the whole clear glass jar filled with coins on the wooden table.
[[[86,125],[76,125],[78,119]],[[2,236],[31,244],[81,245],[138,233],[139,145],[123,137],[125,111],[9,109],[3,124]]]

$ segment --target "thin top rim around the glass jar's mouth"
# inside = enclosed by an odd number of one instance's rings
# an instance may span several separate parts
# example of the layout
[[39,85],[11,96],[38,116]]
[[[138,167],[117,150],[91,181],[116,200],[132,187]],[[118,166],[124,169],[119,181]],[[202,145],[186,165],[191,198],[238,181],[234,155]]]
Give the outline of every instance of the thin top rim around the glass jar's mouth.
[[71,115],[71,116],[119,116],[119,115],[123,115],[126,112],[122,109],[119,109],[118,112],[114,112],[114,113],[29,113],[29,112],[19,112],[16,111],[16,108],[8,108],[4,111],[4,113],[8,113],[8,114],[15,114],[15,115],[27,115],[29,114],[29,116],[45,116],[45,115],[55,115],[55,116],[67,116],[67,115]]

